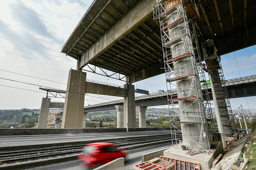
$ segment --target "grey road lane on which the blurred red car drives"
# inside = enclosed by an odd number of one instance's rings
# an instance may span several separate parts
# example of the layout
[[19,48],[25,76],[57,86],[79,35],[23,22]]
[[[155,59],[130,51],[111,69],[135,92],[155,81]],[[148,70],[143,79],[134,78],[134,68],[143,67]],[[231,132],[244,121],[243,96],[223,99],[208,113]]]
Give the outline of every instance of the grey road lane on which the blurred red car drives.
[[[141,155],[152,152],[159,149],[164,149],[170,147],[171,143],[164,143],[155,146],[149,146],[144,148],[138,148],[134,150],[128,151],[129,155],[127,157],[127,161],[125,162],[126,170],[134,170],[133,165],[139,164],[141,162]],[[38,168],[31,168],[27,170],[83,170],[83,168],[77,163],[77,161],[64,162],[60,164],[47,165]]]

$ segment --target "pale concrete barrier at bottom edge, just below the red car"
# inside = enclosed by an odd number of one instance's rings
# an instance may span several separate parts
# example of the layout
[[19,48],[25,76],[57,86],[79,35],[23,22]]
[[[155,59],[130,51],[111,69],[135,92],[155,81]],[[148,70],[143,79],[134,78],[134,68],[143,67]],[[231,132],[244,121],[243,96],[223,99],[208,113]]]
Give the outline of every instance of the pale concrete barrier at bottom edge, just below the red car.
[[124,158],[117,158],[93,170],[124,170]]

